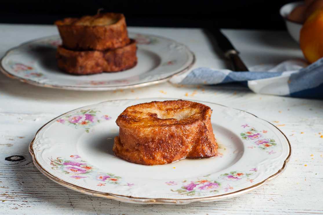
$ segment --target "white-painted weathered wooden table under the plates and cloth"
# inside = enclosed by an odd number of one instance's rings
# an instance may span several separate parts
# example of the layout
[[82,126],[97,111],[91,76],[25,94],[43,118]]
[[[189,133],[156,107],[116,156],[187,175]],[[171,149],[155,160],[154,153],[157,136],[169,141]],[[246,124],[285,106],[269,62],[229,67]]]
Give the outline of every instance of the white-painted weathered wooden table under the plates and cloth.
[[[200,29],[130,31],[173,38],[196,54],[195,67],[224,68]],[[225,30],[247,66],[302,58],[287,32]],[[27,40],[57,34],[54,26],[0,25],[0,56]],[[47,121],[69,110],[112,99],[170,97],[216,102],[254,113],[289,138],[286,171],[243,196],[188,205],[138,205],[62,187],[34,167],[29,142]],[[239,87],[179,87],[163,83],[124,91],[40,88],[0,75],[0,214],[323,214],[323,101],[254,94]]]

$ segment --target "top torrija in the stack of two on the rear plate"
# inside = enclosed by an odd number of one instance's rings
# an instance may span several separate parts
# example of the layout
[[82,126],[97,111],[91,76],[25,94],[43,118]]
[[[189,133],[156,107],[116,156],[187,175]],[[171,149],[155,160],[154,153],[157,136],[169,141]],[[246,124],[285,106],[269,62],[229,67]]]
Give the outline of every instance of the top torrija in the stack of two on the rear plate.
[[129,43],[123,14],[103,13],[55,22],[63,46],[72,50],[106,50]]

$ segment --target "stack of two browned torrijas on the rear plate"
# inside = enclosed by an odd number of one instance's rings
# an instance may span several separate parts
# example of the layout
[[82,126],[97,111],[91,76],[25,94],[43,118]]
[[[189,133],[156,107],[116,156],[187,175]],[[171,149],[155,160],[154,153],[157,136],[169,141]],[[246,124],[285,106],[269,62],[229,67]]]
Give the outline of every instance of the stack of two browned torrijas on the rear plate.
[[57,64],[68,73],[117,72],[137,64],[136,42],[128,37],[123,14],[65,18],[55,25],[62,38]]

